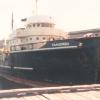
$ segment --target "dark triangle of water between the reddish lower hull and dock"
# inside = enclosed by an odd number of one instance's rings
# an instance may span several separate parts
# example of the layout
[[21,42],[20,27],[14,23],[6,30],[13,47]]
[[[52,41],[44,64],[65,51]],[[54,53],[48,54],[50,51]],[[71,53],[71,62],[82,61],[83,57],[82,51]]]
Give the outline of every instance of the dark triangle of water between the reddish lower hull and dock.
[[0,76],[0,90],[18,89],[18,88],[29,88],[29,86],[14,83]]

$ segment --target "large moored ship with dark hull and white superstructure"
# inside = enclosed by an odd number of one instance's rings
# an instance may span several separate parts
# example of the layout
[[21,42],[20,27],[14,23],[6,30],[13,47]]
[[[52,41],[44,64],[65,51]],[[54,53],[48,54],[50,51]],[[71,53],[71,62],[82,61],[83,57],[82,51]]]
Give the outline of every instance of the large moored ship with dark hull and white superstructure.
[[4,43],[0,72],[66,84],[100,83],[100,29],[65,32],[51,16],[22,19]]

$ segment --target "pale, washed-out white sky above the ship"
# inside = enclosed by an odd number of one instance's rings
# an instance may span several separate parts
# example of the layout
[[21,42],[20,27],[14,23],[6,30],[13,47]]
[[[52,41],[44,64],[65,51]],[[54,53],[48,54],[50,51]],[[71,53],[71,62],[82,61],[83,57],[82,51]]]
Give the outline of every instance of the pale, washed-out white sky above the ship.
[[[0,0],[0,39],[20,26],[20,19],[35,14],[36,0]],[[66,32],[100,28],[100,0],[37,0],[39,15],[54,17],[57,27]]]

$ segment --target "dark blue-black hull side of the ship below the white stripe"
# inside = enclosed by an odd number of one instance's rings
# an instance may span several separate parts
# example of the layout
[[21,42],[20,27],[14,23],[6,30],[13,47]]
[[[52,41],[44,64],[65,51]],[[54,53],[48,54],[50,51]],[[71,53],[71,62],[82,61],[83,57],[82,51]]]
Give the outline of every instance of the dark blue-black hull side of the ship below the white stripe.
[[6,62],[11,69],[5,68],[5,71],[32,80],[67,84],[100,83],[100,38],[77,41],[83,46],[11,53]]

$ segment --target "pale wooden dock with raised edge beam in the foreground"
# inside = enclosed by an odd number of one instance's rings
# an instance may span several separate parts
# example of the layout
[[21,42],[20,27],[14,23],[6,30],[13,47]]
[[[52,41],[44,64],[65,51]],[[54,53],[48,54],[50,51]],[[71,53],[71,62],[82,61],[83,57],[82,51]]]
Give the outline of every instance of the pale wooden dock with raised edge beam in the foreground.
[[0,100],[100,100],[100,84],[1,90]]

